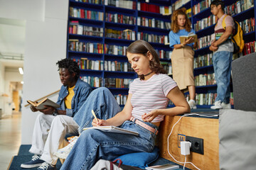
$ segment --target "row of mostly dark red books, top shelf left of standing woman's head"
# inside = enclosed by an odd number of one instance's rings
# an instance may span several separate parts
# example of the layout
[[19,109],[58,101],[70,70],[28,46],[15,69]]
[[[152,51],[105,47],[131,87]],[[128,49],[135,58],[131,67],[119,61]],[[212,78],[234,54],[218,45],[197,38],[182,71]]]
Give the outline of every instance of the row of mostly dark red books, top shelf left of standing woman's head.
[[147,11],[152,13],[161,13],[162,15],[171,15],[172,8],[171,6],[157,6],[154,4],[147,4],[138,2],[137,4],[138,11]]

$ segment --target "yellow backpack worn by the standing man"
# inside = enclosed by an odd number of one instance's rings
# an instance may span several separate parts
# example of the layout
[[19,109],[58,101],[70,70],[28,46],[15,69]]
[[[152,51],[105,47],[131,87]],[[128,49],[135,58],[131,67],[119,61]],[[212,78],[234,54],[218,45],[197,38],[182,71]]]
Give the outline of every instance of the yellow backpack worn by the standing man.
[[[223,22],[222,22],[222,26],[225,30],[225,18],[227,17],[228,15],[226,15],[224,18],[223,18]],[[245,41],[242,39],[242,35],[243,35],[243,32],[242,32],[242,28],[240,26],[240,24],[234,20],[233,18],[233,21],[235,23],[235,29],[233,29],[233,33],[231,35],[231,40],[233,42],[233,45],[234,45],[234,54],[236,53],[239,53],[239,52],[242,52],[243,48],[245,47]]]

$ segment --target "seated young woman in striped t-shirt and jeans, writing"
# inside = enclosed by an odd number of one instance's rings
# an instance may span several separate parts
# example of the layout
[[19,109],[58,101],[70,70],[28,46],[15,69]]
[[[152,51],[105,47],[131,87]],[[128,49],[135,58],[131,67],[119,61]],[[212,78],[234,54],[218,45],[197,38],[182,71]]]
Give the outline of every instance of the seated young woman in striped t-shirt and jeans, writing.
[[[164,74],[159,57],[148,42],[137,40],[129,45],[127,58],[139,78],[130,85],[124,109],[119,111],[117,101],[107,88],[92,91],[81,109],[85,113],[95,111],[97,120],[92,120],[93,126],[114,125],[139,132],[139,136],[85,130],[61,169],[90,169],[99,159],[112,160],[122,154],[151,152],[164,115],[190,112],[176,82]],[[175,104],[174,108],[166,108],[169,100]]]

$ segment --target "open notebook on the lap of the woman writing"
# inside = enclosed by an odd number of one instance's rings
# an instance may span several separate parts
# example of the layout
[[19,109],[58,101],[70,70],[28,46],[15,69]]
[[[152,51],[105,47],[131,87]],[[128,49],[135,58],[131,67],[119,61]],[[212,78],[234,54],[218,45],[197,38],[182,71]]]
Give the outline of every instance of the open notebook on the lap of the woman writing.
[[116,132],[116,133],[124,133],[124,134],[128,134],[128,135],[136,135],[139,136],[138,132],[134,132],[132,130],[125,130],[122,128],[117,128],[113,125],[111,126],[95,126],[95,127],[90,127],[90,128],[83,128],[82,130],[87,130],[87,129],[97,129],[97,130],[102,130],[105,132]]

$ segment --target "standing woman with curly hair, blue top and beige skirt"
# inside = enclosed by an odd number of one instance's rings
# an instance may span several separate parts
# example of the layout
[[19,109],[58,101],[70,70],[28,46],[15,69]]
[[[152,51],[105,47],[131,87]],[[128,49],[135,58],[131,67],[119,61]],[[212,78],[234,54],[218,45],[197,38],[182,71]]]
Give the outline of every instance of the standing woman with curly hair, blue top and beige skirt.
[[171,65],[173,69],[173,79],[178,84],[181,91],[188,89],[188,104],[191,108],[196,108],[196,88],[193,76],[193,48],[197,47],[197,42],[189,38],[181,43],[180,36],[195,33],[191,28],[191,21],[186,16],[186,8],[180,8],[171,16],[171,31],[169,33],[170,47],[173,48],[171,55]]

